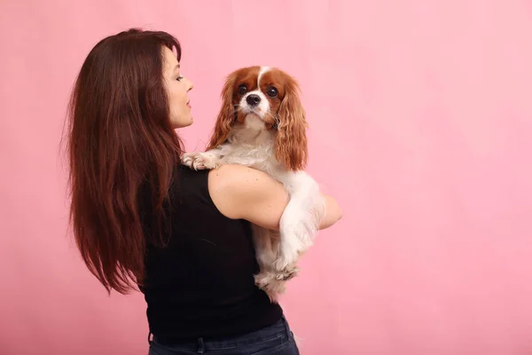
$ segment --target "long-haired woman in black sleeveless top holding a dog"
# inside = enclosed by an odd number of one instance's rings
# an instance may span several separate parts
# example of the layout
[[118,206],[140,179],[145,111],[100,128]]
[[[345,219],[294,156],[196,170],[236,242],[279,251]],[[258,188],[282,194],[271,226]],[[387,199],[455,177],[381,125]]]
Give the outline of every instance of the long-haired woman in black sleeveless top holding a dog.
[[[145,294],[151,354],[297,354],[254,285],[249,229],[278,229],[285,189],[242,166],[180,164],[175,129],[193,122],[180,59],[173,36],[130,29],[83,63],[68,131],[77,246],[108,292]],[[341,217],[328,196],[327,210],[322,228]]]

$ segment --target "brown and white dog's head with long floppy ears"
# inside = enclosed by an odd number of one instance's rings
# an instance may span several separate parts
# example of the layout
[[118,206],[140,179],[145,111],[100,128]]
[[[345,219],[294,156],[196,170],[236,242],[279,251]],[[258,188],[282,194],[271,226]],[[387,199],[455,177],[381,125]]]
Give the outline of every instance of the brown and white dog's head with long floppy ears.
[[275,154],[287,170],[307,164],[307,121],[299,85],[291,75],[274,67],[243,67],[229,75],[222,91],[223,104],[207,149],[225,142],[235,122],[250,114],[275,130]]

